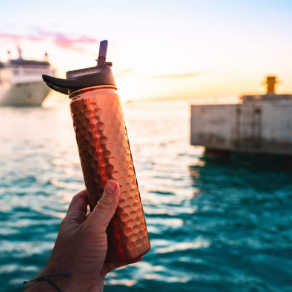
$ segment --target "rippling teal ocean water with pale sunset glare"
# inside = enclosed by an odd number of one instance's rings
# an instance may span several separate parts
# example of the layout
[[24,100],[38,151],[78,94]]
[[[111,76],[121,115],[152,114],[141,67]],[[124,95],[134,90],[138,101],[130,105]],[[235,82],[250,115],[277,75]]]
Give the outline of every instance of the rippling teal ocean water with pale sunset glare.
[[[206,161],[188,102],[124,113],[152,248],[105,291],[292,291],[292,174]],[[16,292],[84,188],[68,103],[0,108],[0,149],[0,292]]]

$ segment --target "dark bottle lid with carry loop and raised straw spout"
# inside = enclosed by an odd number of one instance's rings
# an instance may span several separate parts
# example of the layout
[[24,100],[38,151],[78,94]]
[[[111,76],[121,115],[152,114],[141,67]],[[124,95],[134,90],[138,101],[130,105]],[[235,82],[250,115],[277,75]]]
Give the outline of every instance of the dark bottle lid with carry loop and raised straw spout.
[[46,84],[64,94],[70,94],[82,88],[97,85],[113,85],[115,86],[114,77],[111,71],[112,63],[106,62],[108,41],[100,42],[97,66],[68,71],[67,79],[56,78],[49,75],[42,75]]

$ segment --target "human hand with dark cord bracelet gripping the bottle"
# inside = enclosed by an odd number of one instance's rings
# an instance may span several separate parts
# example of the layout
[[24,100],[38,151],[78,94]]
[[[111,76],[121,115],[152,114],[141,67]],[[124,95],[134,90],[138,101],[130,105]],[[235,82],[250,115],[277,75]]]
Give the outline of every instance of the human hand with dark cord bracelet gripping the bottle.
[[[75,195],[67,214],[60,225],[50,261],[40,275],[70,273],[70,277],[51,278],[62,291],[100,292],[104,278],[110,271],[143,258],[132,261],[105,263],[108,249],[106,229],[115,213],[120,197],[119,184],[107,182],[101,199],[91,214],[87,214],[87,192]],[[36,282],[29,289],[33,291],[55,291],[46,282]]]

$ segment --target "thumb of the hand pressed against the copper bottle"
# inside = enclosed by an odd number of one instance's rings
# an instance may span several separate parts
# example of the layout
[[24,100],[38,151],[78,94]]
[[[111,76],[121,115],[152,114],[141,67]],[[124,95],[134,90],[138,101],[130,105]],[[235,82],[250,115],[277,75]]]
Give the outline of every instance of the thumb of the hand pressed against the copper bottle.
[[94,221],[96,228],[100,229],[101,232],[105,232],[118,206],[119,197],[119,184],[115,180],[109,180],[106,183],[102,197],[97,202],[87,221],[90,220],[91,223]]

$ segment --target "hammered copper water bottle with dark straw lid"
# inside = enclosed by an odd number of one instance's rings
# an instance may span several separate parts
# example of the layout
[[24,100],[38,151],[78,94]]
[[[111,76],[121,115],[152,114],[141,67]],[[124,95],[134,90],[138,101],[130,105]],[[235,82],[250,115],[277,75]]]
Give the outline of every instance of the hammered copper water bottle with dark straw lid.
[[67,79],[43,75],[43,80],[71,99],[91,211],[108,180],[120,185],[119,204],[107,229],[106,261],[114,263],[146,254],[150,242],[112,64],[106,62],[107,46],[107,40],[100,43],[97,66],[68,71]]

